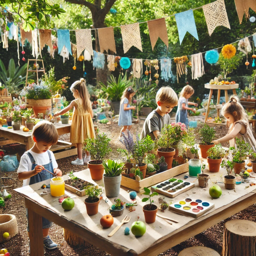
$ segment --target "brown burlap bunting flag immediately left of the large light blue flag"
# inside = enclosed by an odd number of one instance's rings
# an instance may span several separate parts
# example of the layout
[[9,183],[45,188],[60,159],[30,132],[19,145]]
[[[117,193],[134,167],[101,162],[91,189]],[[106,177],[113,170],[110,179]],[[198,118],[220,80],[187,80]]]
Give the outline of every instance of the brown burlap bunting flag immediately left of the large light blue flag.
[[156,45],[158,38],[160,38],[168,48],[168,35],[167,35],[165,18],[148,21],[148,31],[149,31],[152,51],[154,51],[154,47]]

